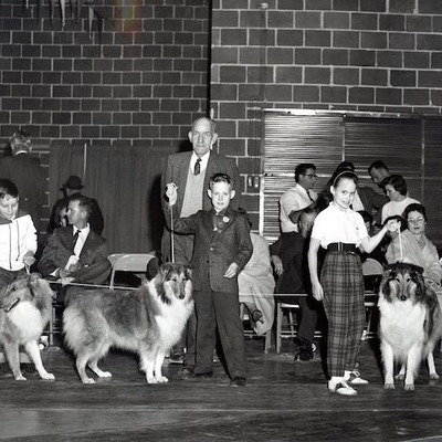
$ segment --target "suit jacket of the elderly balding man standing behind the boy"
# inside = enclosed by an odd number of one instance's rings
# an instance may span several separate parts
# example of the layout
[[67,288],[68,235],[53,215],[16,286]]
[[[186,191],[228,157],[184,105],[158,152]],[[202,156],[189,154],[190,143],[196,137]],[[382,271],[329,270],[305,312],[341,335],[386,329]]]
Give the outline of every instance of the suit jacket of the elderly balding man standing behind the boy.
[[[166,191],[166,186],[170,182],[175,182],[178,190],[178,200],[176,207],[178,208],[178,213],[181,213],[182,201],[186,193],[187,176],[189,173],[190,159],[192,158],[193,150],[170,155],[166,169],[161,176],[161,202],[162,208],[167,202],[164,199],[164,193]],[[212,202],[208,197],[209,180],[214,173],[227,173],[233,181],[233,189],[236,192],[235,198],[232,200],[231,204],[233,209],[239,208],[241,186],[240,186],[240,172],[236,167],[236,162],[233,158],[224,157],[223,155],[217,154],[213,150],[210,152],[208,166],[206,169],[204,186],[202,190],[202,210],[210,210],[212,208]]]

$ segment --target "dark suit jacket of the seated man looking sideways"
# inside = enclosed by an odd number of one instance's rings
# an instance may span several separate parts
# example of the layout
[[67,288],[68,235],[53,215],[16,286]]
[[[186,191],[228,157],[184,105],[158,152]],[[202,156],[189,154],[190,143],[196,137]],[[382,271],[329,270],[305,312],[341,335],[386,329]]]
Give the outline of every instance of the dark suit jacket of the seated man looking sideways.
[[[55,229],[54,233],[48,239],[42,257],[39,262],[39,271],[44,276],[50,275],[59,267],[64,269],[67,260],[73,254],[72,239],[72,225]],[[102,261],[107,261],[106,241],[91,230],[86,238],[86,242],[83,245],[82,252],[80,253],[80,263],[82,264],[82,267],[84,267]]]

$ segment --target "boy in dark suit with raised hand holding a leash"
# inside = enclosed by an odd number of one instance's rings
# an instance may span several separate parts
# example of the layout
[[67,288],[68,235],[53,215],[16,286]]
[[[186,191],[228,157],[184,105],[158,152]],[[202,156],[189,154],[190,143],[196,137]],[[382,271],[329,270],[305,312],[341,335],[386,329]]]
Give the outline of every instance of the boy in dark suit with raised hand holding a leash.
[[[235,191],[225,173],[210,178],[208,189],[211,210],[200,210],[188,218],[178,218],[175,204],[177,187],[167,186],[169,209],[173,210],[177,233],[194,234],[191,264],[194,269],[194,303],[197,309],[196,377],[213,375],[215,330],[231,377],[232,387],[245,386],[246,361],[243,326],[240,319],[238,274],[250,260],[253,246],[244,214],[230,207]],[[170,223],[170,217],[166,217]]]

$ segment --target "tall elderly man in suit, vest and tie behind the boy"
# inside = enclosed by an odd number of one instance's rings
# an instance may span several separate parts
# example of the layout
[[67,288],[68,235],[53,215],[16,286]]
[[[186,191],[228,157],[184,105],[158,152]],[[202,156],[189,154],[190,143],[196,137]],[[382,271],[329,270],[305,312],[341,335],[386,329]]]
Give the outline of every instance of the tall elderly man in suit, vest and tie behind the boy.
[[[207,117],[197,118],[188,137],[193,150],[170,155],[161,176],[161,192],[166,185],[173,182],[178,187],[177,211],[179,217],[189,217],[199,210],[210,210],[211,200],[208,197],[209,179],[212,175],[222,172],[231,177],[236,198],[232,201],[232,208],[239,208],[239,196],[241,194],[240,173],[233,158],[212,150],[218,135],[214,131],[214,123]],[[165,217],[170,217],[161,196]],[[161,242],[162,261],[175,261],[189,264],[193,254],[193,235],[173,234],[173,256],[171,252],[171,231],[165,229]],[[194,367],[194,340],[197,334],[197,322],[191,316],[187,327],[186,346],[187,352],[183,361],[183,376],[191,373]]]

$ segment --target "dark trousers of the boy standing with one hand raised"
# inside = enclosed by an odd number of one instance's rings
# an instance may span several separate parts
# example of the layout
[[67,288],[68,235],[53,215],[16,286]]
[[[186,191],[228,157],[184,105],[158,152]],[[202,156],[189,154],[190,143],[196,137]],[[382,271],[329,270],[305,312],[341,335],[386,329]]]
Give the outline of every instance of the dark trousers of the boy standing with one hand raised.
[[197,366],[194,372],[213,370],[217,327],[229,376],[246,378],[244,330],[238,293],[213,292],[207,282],[194,291],[197,308]]

